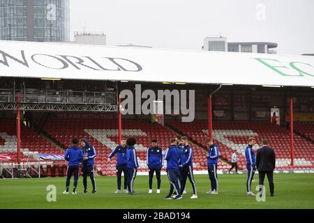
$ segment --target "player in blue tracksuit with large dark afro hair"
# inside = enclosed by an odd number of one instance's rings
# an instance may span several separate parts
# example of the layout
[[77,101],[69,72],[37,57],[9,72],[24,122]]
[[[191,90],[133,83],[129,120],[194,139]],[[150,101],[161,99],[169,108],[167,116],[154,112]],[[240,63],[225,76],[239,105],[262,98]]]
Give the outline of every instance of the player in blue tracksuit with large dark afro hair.
[[128,167],[128,193],[133,194],[134,180],[137,173],[137,167],[139,167],[136,151],[134,148],[134,145],[136,144],[136,139],[130,137],[126,140],[126,144],[128,145],[128,150],[126,152],[126,166]]

